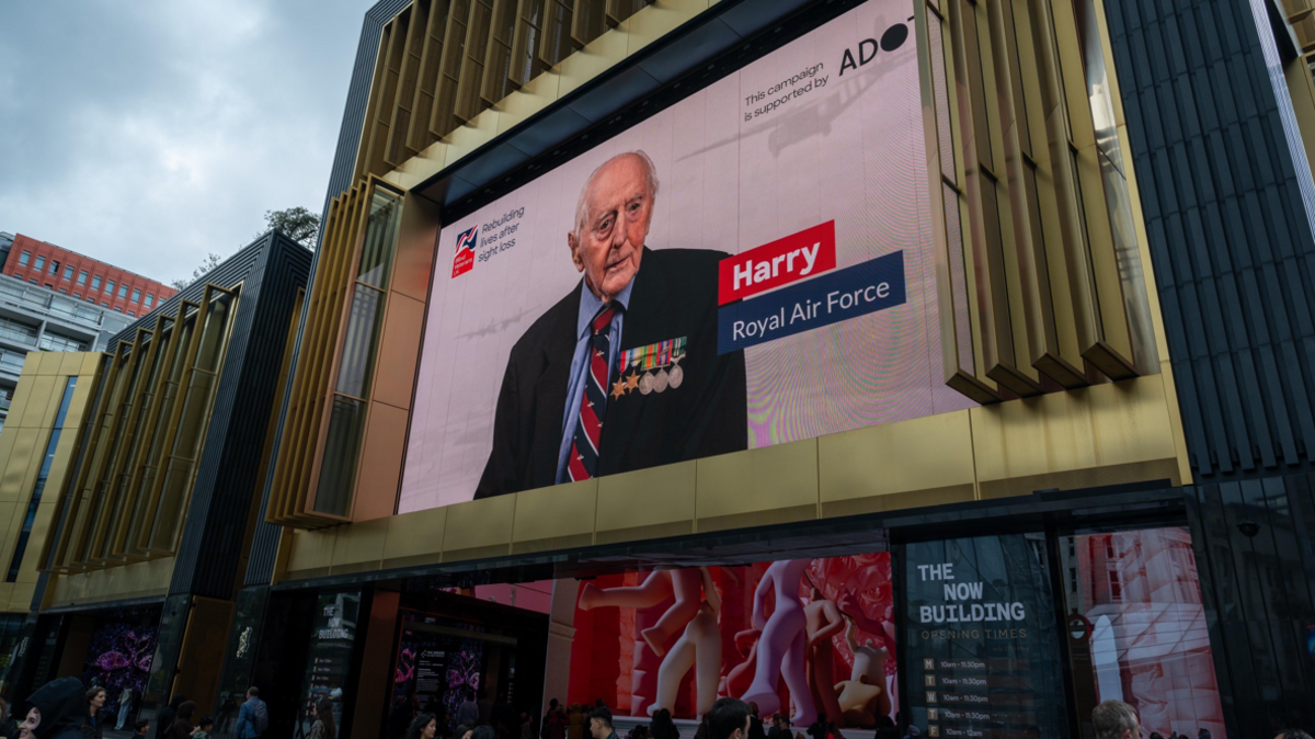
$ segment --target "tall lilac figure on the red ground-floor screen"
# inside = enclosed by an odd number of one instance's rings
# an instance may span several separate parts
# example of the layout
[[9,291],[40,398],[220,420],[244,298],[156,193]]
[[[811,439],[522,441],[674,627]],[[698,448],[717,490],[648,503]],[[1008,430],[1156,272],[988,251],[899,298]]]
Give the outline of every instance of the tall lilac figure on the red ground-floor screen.
[[[757,703],[761,715],[771,715],[781,707],[776,693],[778,680],[785,680],[794,703],[790,721],[796,726],[809,726],[817,721],[817,707],[809,692],[805,665],[807,648],[807,617],[800,601],[800,580],[811,559],[792,559],[775,561],[763,573],[763,580],[753,592],[753,629],[761,629],[757,640],[757,669],[753,682],[740,698]],[[776,592],[776,610],[765,617],[767,601]]]

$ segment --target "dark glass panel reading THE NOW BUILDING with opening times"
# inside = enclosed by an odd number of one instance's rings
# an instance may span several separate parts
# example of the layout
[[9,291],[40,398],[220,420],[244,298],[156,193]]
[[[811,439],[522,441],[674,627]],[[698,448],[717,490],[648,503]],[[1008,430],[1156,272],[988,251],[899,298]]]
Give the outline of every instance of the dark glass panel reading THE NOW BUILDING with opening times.
[[907,546],[910,719],[924,736],[1068,736],[1043,535]]

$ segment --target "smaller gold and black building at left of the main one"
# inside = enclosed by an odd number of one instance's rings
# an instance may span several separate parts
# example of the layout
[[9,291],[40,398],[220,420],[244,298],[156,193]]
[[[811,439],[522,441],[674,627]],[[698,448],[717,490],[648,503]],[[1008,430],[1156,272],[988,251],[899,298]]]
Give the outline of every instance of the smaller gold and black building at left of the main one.
[[9,694],[75,675],[116,697],[116,723],[156,715],[174,693],[221,707],[208,665],[255,529],[309,263],[305,247],[266,234],[105,352],[24,364],[21,417],[0,431],[14,510]]

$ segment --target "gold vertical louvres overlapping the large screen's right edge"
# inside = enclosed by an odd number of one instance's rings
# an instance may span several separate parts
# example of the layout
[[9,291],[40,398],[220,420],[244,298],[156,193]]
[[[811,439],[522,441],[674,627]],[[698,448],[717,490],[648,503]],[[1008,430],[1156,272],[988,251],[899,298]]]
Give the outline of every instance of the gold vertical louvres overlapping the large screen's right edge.
[[977,402],[1156,367],[1097,13],[917,9],[945,384]]

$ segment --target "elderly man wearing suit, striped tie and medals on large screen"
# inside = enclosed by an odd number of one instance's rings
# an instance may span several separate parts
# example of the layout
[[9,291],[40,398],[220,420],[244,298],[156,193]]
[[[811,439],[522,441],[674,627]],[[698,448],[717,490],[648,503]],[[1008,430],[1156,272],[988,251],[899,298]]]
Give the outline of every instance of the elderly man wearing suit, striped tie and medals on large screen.
[[744,355],[717,354],[721,251],[650,250],[643,151],[589,175],[567,234],[580,283],[512,347],[475,497],[746,448]]

